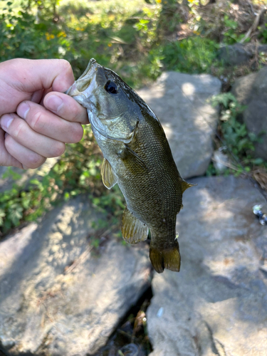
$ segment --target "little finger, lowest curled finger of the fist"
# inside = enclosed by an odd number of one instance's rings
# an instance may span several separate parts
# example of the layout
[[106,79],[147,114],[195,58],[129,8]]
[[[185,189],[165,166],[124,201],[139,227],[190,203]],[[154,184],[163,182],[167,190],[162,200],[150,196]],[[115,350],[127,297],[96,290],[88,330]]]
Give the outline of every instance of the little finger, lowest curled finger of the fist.
[[38,168],[46,161],[45,157],[16,142],[11,135],[6,136],[5,146],[9,154],[21,162],[24,169]]

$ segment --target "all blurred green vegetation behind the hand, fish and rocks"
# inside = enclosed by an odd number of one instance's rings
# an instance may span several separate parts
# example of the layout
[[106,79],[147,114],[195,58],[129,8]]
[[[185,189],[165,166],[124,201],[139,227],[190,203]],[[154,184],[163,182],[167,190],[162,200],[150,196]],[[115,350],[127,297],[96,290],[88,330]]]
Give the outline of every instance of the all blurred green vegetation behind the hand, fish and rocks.
[[[147,85],[163,70],[210,73],[227,91],[235,78],[258,70],[267,58],[259,55],[251,64],[229,69],[217,59],[217,50],[241,41],[265,5],[256,0],[0,0],[0,61],[65,58],[78,78],[95,58],[133,88]],[[264,16],[246,41],[267,43]],[[246,160],[248,172],[255,164],[249,152],[256,138],[236,121],[241,109],[234,98],[222,96],[216,103],[231,119],[219,125],[218,132],[232,146],[242,138],[242,145],[232,149],[240,162]],[[103,187],[101,162],[90,127],[85,127],[83,140],[68,145],[48,174],[0,194],[0,235],[76,194],[89,194],[110,219],[120,216],[123,197],[118,188]],[[244,170],[240,167],[239,173]],[[212,165],[208,174],[216,174]],[[19,178],[12,169],[7,176]]]

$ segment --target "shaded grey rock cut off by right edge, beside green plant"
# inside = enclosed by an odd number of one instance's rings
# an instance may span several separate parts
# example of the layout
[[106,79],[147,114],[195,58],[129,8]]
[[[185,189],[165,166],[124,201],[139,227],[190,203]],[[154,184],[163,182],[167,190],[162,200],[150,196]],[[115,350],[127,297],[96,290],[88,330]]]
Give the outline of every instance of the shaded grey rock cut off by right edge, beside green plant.
[[248,131],[261,135],[262,142],[255,143],[255,156],[267,160],[267,67],[236,80],[232,93],[246,109],[242,119]]

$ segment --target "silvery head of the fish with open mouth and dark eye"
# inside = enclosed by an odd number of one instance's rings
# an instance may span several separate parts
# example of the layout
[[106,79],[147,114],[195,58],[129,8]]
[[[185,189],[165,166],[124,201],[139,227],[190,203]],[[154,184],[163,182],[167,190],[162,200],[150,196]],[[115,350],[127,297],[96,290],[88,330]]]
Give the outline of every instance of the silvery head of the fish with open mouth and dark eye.
[[140,115],[140,97],[115,72],[91,59],[66,92],[88,110],[90,124],[112,140],[132,140]]

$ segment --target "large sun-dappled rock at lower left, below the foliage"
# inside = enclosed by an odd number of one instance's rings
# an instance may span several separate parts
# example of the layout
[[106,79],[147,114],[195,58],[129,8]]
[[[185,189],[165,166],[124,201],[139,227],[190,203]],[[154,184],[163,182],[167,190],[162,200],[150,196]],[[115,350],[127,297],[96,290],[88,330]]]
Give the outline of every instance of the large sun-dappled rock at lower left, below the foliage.
[[6,355],[90,355],[150,285],[147,244],[113,238],[100,253],[90,250],[98,219],[105,217],[78,197],[1,242]]

